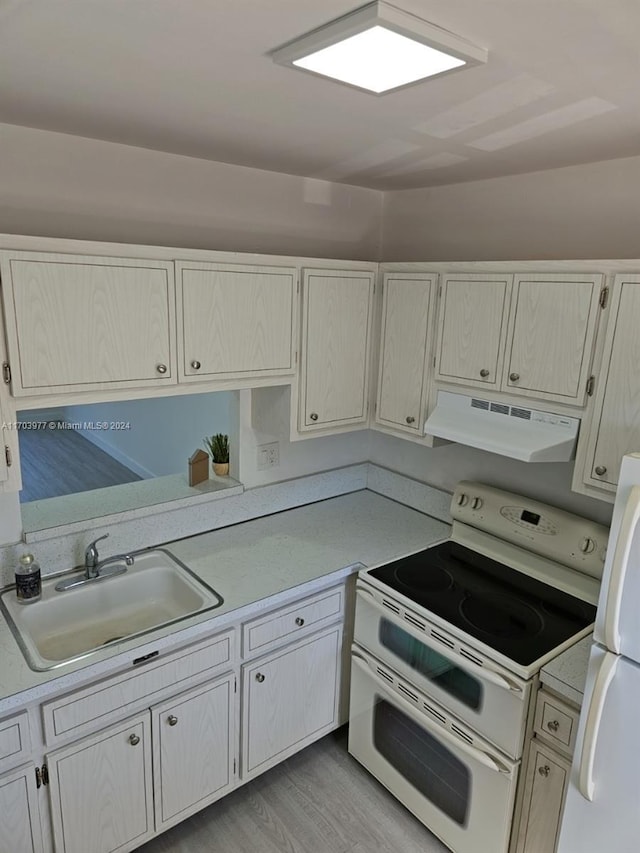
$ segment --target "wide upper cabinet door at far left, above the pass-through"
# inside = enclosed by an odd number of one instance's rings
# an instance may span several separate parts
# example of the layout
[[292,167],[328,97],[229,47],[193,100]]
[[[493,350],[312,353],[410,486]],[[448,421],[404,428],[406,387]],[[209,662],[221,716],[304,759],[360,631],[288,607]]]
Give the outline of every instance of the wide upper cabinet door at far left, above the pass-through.
[[173,265],[4,253],[15,396],[176,381]]

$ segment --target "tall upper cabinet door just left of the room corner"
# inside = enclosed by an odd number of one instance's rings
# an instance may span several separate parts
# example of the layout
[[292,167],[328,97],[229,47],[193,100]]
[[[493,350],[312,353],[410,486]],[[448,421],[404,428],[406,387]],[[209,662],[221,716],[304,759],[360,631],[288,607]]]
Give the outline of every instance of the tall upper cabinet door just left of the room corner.
[[304,272],[301,431],[366,423],[375,274]]

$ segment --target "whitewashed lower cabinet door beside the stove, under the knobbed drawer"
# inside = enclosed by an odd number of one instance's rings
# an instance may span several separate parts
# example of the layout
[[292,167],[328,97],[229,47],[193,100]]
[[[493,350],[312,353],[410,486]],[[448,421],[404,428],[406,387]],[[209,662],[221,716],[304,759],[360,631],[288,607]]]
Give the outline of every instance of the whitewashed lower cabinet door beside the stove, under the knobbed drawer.
[[335,728],[340,625],[242,667],[242,778]]

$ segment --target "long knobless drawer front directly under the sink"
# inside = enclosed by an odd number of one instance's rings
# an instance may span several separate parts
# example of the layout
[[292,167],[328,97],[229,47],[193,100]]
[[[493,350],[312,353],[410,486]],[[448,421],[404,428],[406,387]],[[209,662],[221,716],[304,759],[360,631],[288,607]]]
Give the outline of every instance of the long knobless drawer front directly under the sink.
[[148,708],[169,689],[175,693],[189,687],[191,681],[229,668],[234,660],[234,636],[227,631],[142,669],[46,702],[42,715],[47,744],[96,731]]

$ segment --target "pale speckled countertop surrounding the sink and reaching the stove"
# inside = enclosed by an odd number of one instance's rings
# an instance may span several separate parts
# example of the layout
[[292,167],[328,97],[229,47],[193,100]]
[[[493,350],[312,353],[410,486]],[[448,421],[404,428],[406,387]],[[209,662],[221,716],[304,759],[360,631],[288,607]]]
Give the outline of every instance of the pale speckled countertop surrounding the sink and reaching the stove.
[[[277,606],[356,571],[425,548],[449,525],[367,490],[163,543],[224,598],[222,607],[116,643],[48,672],[34,672],[0,616],[0,715],[130,664],[134,656],[214,633],[256,605]],[[161,544],[161,543],[158,543]],[[258,604],[259,603],[259,604]]]

